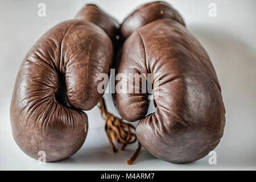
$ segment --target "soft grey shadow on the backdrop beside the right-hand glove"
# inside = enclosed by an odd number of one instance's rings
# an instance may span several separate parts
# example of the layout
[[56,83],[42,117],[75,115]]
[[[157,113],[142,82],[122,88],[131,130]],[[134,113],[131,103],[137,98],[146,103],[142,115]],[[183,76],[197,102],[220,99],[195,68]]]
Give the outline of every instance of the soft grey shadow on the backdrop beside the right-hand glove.
[[226,109],[224,137],[216,148],[222,166],[256,167],[256,53],[229,32],[191,26],[208,52],[221,85]]

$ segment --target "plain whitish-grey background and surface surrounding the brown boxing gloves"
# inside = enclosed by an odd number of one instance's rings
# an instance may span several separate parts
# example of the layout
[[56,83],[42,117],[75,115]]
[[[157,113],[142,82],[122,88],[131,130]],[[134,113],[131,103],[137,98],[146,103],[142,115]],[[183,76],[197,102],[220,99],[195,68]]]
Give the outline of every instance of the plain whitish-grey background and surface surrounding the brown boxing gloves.
[[[38,3],[46,3],[46,17],[38,16]],[[89,1],[0,1],[0,169],[30,170],[183,170],[256,169],[256,1],[168,1],[183,15],[187,28],[209,53],[222,88],[226,107],[225,134],[215,149],[217,165],[209,156],[188,164],[172,164],[142,150],[127,166],[137,144],[113,154],[97,107],[87,111],[89,132],[82,148],[71,158],[39,165],[14,142],[10,126],[10,101],[16,75],[32,45],[49,28],[72,19]],[[136,6],[147,1],[90,1],[122,22]],[[208,15],[216,3],[217,16]],[[110,112],[117,115],[105,94]],[[150,112],[154,108],[150,109]]]

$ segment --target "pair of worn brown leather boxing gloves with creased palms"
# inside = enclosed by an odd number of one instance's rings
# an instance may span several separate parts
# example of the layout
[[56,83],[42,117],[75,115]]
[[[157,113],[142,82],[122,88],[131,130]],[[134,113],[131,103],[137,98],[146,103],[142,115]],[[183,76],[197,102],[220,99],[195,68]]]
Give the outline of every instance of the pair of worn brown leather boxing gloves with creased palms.
[[115,92],[113,101],[123,119],[139,120],[137,139],[156,158],[192,162],[220,142],[225,107],[213,65],[179,13],[158,1],[138,7],[121,26],[96,5],[86,5],[35,43],[20,66],[10,109],[22,151],[35,159],[45,151],[47,162],[75,154],[88,131],[82,110],[101,100],[98,75],[109,75],[111,67],[147,81],[152,75],[155,113],[146,115],[147,92]]

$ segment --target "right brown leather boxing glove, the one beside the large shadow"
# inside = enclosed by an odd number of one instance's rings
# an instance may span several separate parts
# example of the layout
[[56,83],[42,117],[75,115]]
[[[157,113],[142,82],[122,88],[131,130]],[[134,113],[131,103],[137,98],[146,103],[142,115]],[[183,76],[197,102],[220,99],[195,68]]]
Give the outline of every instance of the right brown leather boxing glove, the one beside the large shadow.
[[[130,122],[139,120],[137,138],[156,158],[187,163],[208,155],[224,134],[225,107],[207,52],[165,2],[138,7],[121,31],[126,40],[115,73],[126,76],[116,85],[138,86],[140,92],[113,94],[119,114]],[[142,93],[142,81],[136,85],[129,73],[146,80],[152,74],[155,113],[146,115],[148,93]]]

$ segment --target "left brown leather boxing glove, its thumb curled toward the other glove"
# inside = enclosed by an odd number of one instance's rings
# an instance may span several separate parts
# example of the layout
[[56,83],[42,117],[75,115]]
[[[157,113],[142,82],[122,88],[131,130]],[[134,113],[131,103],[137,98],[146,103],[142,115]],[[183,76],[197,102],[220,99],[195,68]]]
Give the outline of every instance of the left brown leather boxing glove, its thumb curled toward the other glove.
[[13,90],[13,137],[32,158],[68,158],[82,146],[90,110],[100,101],[99,73],[109,74],[119,24],[95,5],[57,24],[27,53]]

